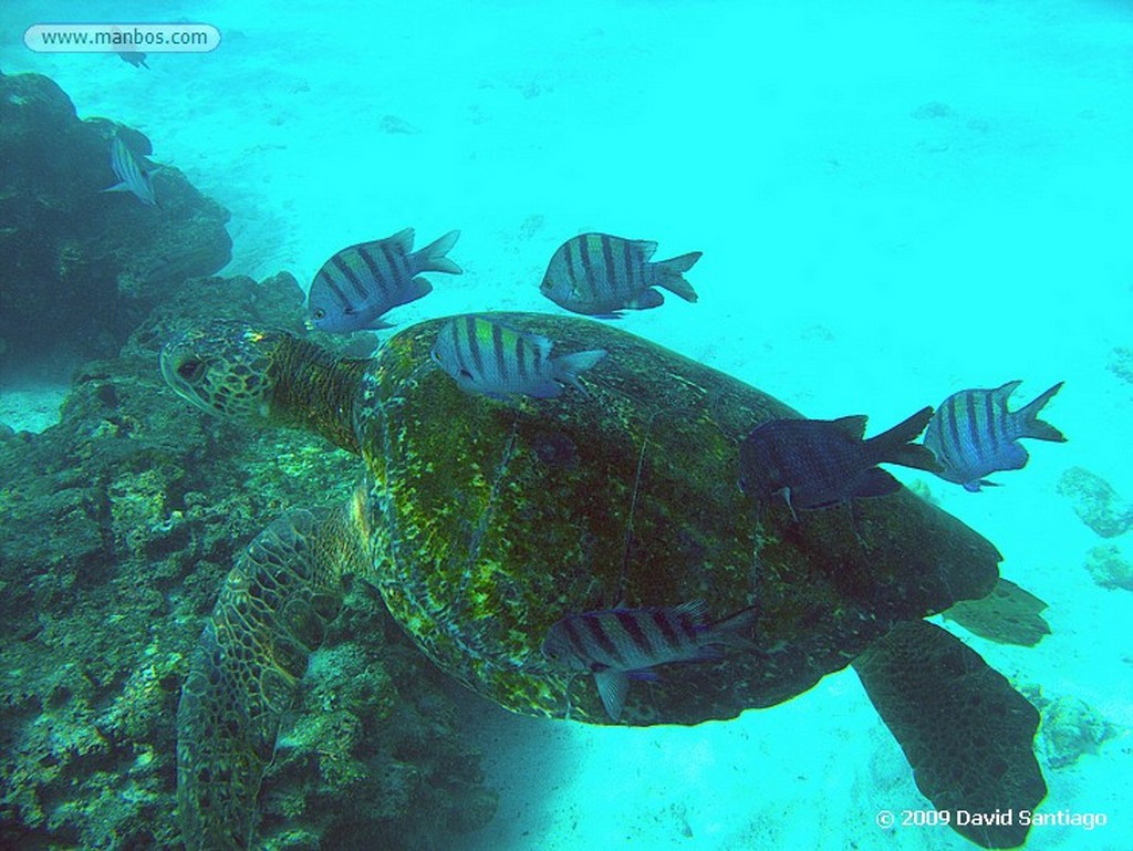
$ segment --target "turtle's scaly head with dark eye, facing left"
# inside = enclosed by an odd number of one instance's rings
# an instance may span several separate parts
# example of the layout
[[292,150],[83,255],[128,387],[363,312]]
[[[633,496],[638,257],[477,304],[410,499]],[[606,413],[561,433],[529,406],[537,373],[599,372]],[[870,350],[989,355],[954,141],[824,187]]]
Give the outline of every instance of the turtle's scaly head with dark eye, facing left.
[[161,350],[161,374],[178,395],[229,419],[262,423],[274,392],[281,331],[216,321],[182,331]]

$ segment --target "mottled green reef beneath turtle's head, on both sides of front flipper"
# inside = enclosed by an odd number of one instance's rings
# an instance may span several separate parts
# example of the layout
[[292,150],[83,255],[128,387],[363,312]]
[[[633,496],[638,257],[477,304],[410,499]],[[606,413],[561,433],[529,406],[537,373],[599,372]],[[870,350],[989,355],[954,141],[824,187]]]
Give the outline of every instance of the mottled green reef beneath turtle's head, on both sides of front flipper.
[[[0,846],[177,848],[181,679],[236,552],[282,510],[346,500],[358,462],[187,410],[157,351],[179,321],[298,330],[289,275],[171,288],[58,426],[0,440]],[[432,670],[351,590],[265,781],[266,846],[451,848],[495,810]]]

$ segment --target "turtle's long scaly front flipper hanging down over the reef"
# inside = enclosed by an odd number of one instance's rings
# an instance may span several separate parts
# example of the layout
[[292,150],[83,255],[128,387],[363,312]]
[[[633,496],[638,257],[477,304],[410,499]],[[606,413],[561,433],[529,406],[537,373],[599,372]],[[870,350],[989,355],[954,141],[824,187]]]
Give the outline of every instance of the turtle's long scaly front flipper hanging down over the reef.
[[341,604],[335,517],[292,511],[264,529],[201,635],[177,710],[177,806],[189,851],[252,841],[280,721]]

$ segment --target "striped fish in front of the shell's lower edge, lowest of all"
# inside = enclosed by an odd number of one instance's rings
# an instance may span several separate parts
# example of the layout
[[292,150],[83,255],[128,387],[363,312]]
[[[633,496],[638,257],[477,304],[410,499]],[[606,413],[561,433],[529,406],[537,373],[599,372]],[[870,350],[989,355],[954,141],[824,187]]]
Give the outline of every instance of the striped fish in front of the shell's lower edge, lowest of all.
[[555,669],[593,673],[606,713],[617,721],[630,678],[653,679],[656,665],[706,662],[721,646],[753,647],[749,633],[756,610],[744,609],[712,622],[704,601],[679,606],[610,609],[570,614],[556,621],[543,641],[543,657]]

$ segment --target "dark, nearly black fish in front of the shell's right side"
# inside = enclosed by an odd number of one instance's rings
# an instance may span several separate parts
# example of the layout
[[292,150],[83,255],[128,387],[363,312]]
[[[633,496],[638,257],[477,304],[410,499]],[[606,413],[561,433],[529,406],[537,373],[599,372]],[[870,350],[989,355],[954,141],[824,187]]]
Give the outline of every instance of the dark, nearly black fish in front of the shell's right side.
[[758,500],[783,493],[792,514],[796,508],[893,493],[901,483],[877,465],[940,469],[930,451],[911,443],[931,416],[932,409],[923,408],[869,440],[864,416],[764,423],[740,444],[740,487]]

